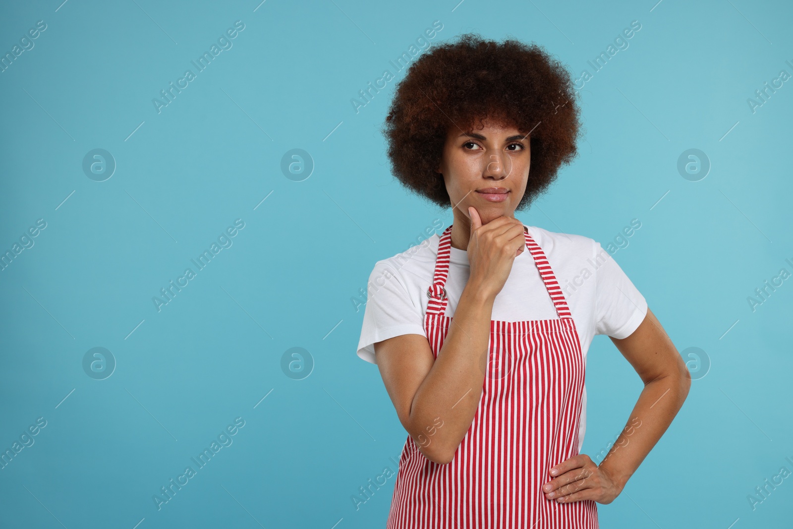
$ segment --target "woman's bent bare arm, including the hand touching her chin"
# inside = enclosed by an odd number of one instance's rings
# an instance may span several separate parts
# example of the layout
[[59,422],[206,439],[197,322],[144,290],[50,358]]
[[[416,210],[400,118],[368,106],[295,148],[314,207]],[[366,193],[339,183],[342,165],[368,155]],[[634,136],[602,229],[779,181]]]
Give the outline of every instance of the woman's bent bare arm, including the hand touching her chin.
[[427,459],[445,465],[471,427],[487,373],[493,302],[507,282],[515,255],[526,248],[523,223],[498,217],[481,224],[471,215],[470,274],[438,358],[421,335],[374,344],[385,389],[404,429]]

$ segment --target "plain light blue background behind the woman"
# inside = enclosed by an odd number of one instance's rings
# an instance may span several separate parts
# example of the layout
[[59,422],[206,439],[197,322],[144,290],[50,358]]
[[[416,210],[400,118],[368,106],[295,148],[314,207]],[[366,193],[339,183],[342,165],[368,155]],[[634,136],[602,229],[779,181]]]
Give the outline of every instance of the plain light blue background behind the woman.
[[[579,157],[518,215],[603,245],[641,220],[614,257],[678,350],[711,362],[601,525],[789,526],[791,478],[755,510],[747,496],[793,470],[793,279],[754,312],[747,297],[793,271],[793,86],[754,113],[747,99],[793,74],[790,4],[61,2],[0,10],[3,54],[47,24],[0,73],[0,249],[47,222],[0,271],[0,447],[47,420],[0,470],[0,526],[385,527],[393,477],[357,510],[351,496],[397,470],[406,433],[355,355],[353,299],[375,261],[451,217],[389,173],[378,131],[396,79],[358,113],[351,98],[436,20],[433,41],[534,40],[576,75],[641,23],[582,90]],[[238,20],[158,113],[152,98]],[[82,171],[94,148],[117,163],[104,182]],[[280,168],[293,148],[315,164],[302,182]],[[699,182],[676,169],[689,148],[711,162]],[[151,298],[238,218],[232,247],[158,312]],[[105,380],[82,369],[93,347],[116,358]],[[312,356],[308,378],[282,371],[290,347]],[[642,389],[606,336],[587,388],[596,454]],[[158,510],[235,417],[232,445]]]

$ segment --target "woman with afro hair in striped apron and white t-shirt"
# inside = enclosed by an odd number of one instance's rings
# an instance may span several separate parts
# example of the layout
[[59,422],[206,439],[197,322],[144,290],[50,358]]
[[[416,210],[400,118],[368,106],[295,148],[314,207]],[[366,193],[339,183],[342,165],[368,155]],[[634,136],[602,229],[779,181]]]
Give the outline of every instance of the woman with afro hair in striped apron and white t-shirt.
[[[409,434],[389,529],[598,527],[596,502],[688,395],[683,359],[600,243],[515,218],[577,154],[578,120],[569,73],[516,40],[463,35],[397,86],[393,173],[454,221],[370,276],[358,355]],[[600,465],[579,453],[596,334],[645,384]]]

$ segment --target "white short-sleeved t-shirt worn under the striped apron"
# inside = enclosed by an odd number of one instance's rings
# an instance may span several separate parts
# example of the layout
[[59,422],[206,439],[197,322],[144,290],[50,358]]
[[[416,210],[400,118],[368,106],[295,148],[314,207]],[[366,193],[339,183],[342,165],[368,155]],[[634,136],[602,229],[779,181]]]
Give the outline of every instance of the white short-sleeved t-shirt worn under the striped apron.
[[[525,224],[524,224],[525,225]],[[526,226],[550,263],[576,324],[586,362],[595,335],[630,336],[647,313],[647,302],[611,255],[589,237]],[[369,277],[358,356],[377,363],[374,343],[394,336],[424,332],[427,288],[435,273],[440,236],[435,233],[400,254],[377,261]],[[468,252],[450,248],[446,279],[446,316],[468,282]],[[515,257],[504,288],[493,301],[492,320],[525,321],[558,318],[554,304],[528,248]],[[581,397],[580,450],[586,429],[586,386]]]

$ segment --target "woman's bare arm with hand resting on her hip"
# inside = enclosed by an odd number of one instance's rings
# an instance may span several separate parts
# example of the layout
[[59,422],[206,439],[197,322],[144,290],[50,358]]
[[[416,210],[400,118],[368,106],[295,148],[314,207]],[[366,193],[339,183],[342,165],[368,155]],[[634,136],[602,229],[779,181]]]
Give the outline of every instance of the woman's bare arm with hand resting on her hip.
[[551,469],[549,483],[542,489],[551,500],[611,503],[672,424],[688,396],[688,368],[652,311],[647,309],[645,319],[633,334],[611,341],[645,387],[626,427],[600,466],[588,455],[579,454]]

